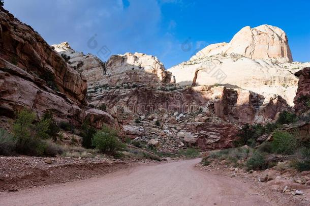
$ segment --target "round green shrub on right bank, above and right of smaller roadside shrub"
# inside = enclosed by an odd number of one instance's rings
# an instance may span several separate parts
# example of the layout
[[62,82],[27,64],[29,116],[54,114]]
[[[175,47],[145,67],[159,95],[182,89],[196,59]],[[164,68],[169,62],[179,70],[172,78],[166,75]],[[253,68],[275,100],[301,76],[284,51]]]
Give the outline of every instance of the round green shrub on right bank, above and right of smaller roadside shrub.
[[277,131],[271,142],[272,152],[292,155],[297,149],[297,139],[289,132]]

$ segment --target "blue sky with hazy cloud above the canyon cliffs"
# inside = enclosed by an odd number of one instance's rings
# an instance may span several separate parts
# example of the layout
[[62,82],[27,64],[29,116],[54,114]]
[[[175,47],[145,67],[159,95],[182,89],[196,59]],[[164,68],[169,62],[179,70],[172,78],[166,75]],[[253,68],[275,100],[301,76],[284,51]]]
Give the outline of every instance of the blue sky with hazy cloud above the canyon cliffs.
[[105,54],[142,52],[168,69],[208,44],[229,42],[243,26],[270,24],[287,33],[294,61],[310,62],[307,0],[5,0],[5,8],[49,44],[68,41],[104,61],[102,48]]

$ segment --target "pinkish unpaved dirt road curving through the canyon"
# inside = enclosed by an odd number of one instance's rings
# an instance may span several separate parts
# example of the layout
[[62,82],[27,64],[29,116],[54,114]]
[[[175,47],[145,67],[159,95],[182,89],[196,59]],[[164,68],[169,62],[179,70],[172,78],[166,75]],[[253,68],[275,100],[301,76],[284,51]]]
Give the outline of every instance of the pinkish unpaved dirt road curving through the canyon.
[[137,166],[65,185],[0,193],[0,205],[270,205],[250,185],[197,170],[199,161]]

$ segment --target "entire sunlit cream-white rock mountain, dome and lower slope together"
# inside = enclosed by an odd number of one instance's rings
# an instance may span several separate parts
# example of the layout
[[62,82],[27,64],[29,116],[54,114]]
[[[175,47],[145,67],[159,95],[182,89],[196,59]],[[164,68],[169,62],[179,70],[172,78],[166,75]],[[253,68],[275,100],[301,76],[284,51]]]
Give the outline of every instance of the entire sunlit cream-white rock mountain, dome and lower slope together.
[[292,62],[285,33],[261,25],[242,28],[230,43],[212,44],[170,71],[180,85],[223,84],[265,97],[282,96],[292,106],[298,78],[293,73],[310,63]]

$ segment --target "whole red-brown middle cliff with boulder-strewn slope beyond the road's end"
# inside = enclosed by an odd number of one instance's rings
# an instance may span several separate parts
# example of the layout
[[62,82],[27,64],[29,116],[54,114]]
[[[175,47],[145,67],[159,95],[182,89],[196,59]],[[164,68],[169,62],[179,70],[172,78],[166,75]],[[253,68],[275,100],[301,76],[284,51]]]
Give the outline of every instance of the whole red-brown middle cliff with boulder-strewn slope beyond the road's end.
[[70,56],[69,64],[87,79],[91,107],[117,116],[128,137],[158,150],[228,148],[240,125],[272,122],[290,109],[278,95],[216,85],[179,87],[163,64],[146,54],[113,55],[102,63],[68,43],[53,47]]

